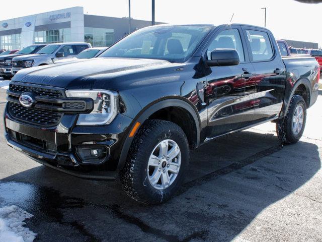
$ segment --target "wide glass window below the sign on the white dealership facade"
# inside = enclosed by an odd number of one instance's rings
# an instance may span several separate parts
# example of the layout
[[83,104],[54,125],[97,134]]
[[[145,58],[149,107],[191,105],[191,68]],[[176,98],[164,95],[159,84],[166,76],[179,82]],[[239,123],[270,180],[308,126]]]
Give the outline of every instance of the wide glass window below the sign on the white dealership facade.
[[35,32],[35,44],[69,42],[70,39],[70,28]]

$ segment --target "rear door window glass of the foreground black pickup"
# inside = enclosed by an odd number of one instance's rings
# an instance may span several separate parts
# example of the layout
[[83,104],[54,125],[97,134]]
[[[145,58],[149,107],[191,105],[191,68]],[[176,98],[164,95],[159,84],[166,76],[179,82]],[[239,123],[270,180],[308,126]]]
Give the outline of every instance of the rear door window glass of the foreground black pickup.
[[273,57],[271,41],[266,32],[246,30],[246,33],[251,45],[253,61],[268,61]]

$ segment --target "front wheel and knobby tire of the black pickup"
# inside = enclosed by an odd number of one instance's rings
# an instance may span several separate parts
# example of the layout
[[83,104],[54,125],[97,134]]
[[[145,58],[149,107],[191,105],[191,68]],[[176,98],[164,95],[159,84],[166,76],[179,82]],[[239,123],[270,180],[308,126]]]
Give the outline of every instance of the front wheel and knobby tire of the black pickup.
[[189,145],[183,130],[165,120],[147,120],[120,172],[122,187],[138,202],[163,203],[181,186],[188,165]]

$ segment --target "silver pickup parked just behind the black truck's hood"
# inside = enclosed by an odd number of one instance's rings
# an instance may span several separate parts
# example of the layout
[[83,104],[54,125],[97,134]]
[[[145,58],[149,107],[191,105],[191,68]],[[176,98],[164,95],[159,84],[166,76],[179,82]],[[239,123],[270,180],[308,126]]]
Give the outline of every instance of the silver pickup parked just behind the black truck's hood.
[[53,64],[60,59],[72,58],[84,49],[91,48],[89,43],[55,43],[48,44],[36,54],[13,58],[12,75],[24,68]]

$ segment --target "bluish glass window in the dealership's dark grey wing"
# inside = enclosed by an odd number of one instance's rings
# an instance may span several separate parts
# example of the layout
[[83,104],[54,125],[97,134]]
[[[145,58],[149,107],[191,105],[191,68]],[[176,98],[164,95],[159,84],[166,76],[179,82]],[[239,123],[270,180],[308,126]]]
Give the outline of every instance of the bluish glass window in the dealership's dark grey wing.
[[108,47],[114,44],[114,29],[85,27],[84,40],[93,47]]

